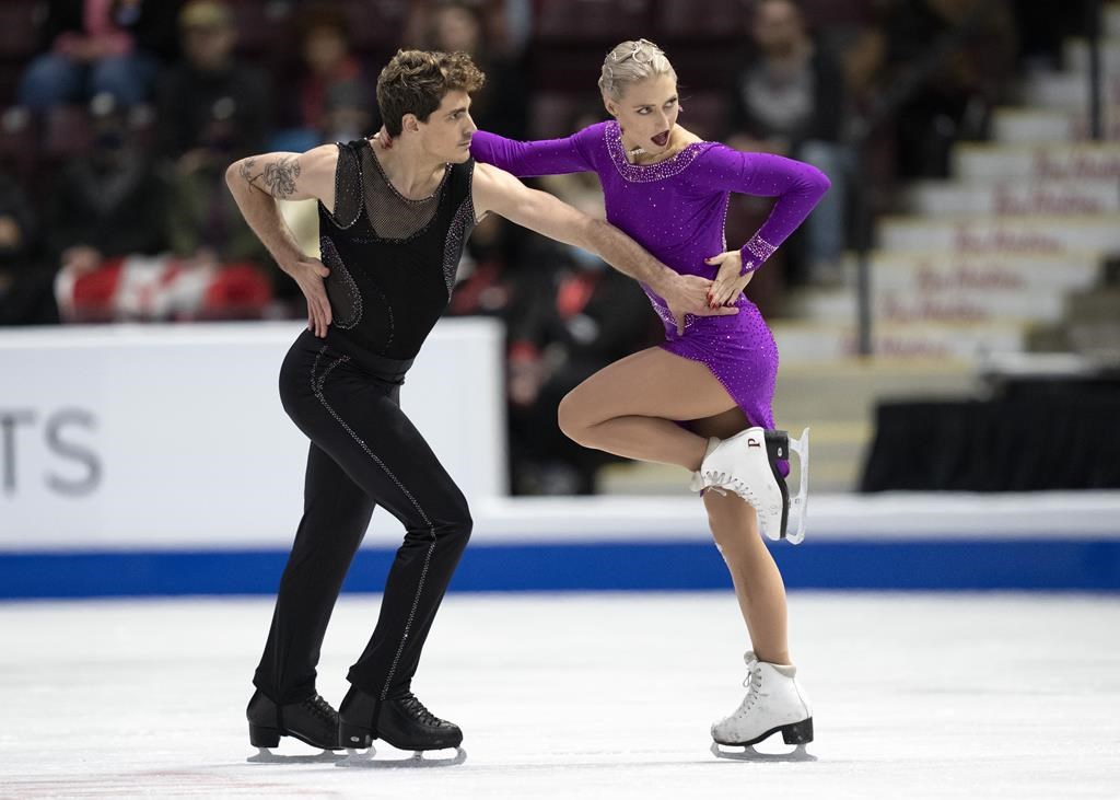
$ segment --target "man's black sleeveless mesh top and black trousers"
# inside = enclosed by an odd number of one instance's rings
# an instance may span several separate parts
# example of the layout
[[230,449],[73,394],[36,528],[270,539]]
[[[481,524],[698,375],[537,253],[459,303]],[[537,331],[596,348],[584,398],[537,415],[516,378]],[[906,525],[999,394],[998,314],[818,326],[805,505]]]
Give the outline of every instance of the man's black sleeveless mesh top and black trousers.
[[253,683],[278,704],[316,694],[319,648],[376,504],[405,528],[376,629],[348,679],[380,699],[407,695],[432,620],[470,537],[463,492],[400,409],[404,374],[447,306],[475,224],[474,161],[436,193],[401,196],[367,140],[338,145],[335,208],[319,205],[333,323],[304,332],[280,398],[310,439],[304,517]]

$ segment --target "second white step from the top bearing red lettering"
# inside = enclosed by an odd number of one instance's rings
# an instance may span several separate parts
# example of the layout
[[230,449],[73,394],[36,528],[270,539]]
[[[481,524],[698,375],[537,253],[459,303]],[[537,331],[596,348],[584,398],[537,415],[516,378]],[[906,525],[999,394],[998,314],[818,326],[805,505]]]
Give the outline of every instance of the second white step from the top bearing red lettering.
[[1108,180],[921,182],[909,187],[915,214],[1105,214],[1120,212],[1120,183]]

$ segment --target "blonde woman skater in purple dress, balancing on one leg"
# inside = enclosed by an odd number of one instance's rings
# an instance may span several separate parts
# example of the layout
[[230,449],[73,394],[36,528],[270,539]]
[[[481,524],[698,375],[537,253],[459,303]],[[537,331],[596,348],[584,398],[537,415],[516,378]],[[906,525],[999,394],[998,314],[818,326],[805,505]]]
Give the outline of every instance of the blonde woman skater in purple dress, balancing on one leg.
[[[731,150],[678,125],[676,74],[651,41],[615,47],[598,84],[613,120],[549,141],[516,142],[478,131],[470,151],[519,177],[597,173],[612,224],[682,275],[715,278],[711,304],[738,308],[731,316],[678,318],[643,286],[665,325],[665,342],[572,390],[560,403],[559,425],[585,447],[699,471],[692,489],[703,492],[752,643],[745,655],[747,695],[712,725],[712,738],[749,746],[782,732],[787,744],[803,745],[812,741],[812,711],[790,658],[785,586],[759,537],[759,514],[746,500],[762,509],[764,533],[781,533],[772,523],[773,509],[759,500],[766,491],[721,481],[720,466],[730,445],[754,448],[764,459],[768,489],[776,487],[768,467],[786,457],[774,444],[780,437],[768,432],[777,347],[743,289],[809,215],[829,179],[809,165]],[[727,250],[724,233],[731,192],[778,197],[769,218],[739,250]],[[786,472],[787,465],[778,461],[777,468]],[[703,491],[709,487],[732,491]]]

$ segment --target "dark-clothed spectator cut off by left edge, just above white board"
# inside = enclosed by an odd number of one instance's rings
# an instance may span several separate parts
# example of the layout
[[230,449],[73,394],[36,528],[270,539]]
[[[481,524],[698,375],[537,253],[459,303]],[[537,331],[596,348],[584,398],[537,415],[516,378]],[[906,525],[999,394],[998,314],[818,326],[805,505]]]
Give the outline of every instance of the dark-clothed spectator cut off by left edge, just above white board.
[[0,325],[58,322],[54,269],[37,252],[35,213],[27,195],[0,174]]

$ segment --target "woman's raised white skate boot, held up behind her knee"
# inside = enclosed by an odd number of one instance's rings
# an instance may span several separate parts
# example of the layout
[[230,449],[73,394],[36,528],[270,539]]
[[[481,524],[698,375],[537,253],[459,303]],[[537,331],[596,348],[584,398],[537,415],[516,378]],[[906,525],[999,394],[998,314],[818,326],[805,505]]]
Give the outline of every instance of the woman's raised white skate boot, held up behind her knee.
[[[797,454],[801,480],[797,494],[790,500],[785,478],[777,462]],[[711,438],[703,463],[692,473],[693,492],[713,489],[735,492],[758,512],[758,528],[767,539],[786,539],[797,545],[805,538],[805,511],[809,506],[809,429],[800,439],[790,440],[784,430],[747,428],[727,439]]]

